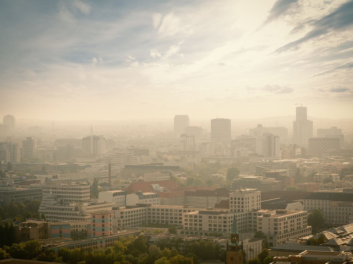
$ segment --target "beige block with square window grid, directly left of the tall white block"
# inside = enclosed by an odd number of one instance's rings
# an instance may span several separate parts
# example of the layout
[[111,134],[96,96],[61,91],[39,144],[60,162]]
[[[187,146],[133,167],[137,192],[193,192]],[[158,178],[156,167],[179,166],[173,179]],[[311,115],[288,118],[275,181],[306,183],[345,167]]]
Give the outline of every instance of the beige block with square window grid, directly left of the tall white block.
[[198,210],[184,214],[184,229],[207,232],[231,232],[233,212],[228,210]]

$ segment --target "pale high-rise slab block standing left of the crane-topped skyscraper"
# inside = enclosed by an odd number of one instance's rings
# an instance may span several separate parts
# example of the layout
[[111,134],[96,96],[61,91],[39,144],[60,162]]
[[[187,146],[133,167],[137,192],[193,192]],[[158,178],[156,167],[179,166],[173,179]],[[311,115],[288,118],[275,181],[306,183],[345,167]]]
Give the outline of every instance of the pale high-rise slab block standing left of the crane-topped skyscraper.
[[281,157],[280,137],[271,133],[263,133],[256,138],[256,152],[265,157]]

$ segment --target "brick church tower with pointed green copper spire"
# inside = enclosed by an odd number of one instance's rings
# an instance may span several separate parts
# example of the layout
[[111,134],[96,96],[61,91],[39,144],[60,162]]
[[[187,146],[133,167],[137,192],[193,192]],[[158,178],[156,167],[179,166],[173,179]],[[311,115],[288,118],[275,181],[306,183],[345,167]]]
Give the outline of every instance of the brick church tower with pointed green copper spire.
[[239,232],[235,214],[231,232],[231,242],[227,242],[227,264],[244,264],[243,241],[239,242]]

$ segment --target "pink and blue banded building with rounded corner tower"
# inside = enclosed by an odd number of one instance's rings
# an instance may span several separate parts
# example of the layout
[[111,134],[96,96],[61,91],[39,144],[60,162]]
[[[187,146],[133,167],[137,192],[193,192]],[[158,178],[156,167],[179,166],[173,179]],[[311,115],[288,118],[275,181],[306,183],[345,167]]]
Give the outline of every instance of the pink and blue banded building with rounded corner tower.
[[88,231],[90,238],[113,234],[112,211],[91,213],[91,224]]

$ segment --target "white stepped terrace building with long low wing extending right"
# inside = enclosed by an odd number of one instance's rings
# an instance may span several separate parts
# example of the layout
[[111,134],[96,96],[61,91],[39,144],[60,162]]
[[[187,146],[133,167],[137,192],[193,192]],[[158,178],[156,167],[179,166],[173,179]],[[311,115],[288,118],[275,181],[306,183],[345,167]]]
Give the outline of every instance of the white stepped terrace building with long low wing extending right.
[[62,204],[56,196],[43,197],[39,214],[44,214],[47,221],[90,221],[91,212],[111,210],[114,203],[68,203]]

